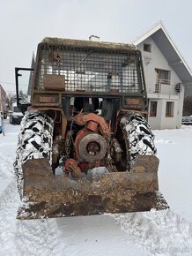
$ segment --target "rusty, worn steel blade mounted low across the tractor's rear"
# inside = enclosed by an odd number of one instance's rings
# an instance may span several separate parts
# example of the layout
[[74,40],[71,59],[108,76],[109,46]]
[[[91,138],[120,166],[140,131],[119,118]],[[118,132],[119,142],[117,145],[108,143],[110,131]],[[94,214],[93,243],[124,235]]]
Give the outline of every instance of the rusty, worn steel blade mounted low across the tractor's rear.
[[139,155],[130,172],[107,172],[98,177],[54,176],[47,159],[23,165],[24,198],[18,219],[103,215],[168,207],[158,187],[159,159]]

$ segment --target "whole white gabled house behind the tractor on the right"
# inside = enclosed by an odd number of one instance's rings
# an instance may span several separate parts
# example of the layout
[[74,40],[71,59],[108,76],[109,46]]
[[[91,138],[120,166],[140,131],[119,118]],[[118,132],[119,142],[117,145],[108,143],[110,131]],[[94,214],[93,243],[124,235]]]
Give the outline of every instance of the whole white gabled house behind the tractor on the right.
[[162,22],[133,42],[141,50],[151,129],[181,128],[184,87],[192,72]]

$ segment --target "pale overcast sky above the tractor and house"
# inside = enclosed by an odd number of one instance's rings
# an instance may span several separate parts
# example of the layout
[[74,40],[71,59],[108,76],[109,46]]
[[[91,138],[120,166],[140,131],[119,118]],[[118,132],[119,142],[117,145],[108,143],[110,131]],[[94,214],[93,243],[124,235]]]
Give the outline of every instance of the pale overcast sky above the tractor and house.
[[46,36],[132,42],[159,20],[192,67],[190,0],[0,0],[0,84],[15,90],[14,68]]

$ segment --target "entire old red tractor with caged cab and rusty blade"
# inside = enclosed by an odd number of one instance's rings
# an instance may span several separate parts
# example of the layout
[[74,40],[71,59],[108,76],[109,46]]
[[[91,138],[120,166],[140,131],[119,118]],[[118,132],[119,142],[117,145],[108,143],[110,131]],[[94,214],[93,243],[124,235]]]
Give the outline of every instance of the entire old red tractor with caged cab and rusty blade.
[[[22,71],[31,72],[30,102],[18,94]],[[168,207],[133,45],[45,38],[34,70],[16,68],[16,88],[26,111],[14,165],[19,218]]]

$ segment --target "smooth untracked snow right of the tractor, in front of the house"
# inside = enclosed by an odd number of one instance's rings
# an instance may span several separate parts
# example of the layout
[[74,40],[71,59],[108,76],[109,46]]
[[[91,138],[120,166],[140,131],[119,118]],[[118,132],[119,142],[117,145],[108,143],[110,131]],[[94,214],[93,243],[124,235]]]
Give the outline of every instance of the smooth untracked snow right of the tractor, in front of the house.
[[175,213],[192,222],[192,126],[154,133],[160,191]]

